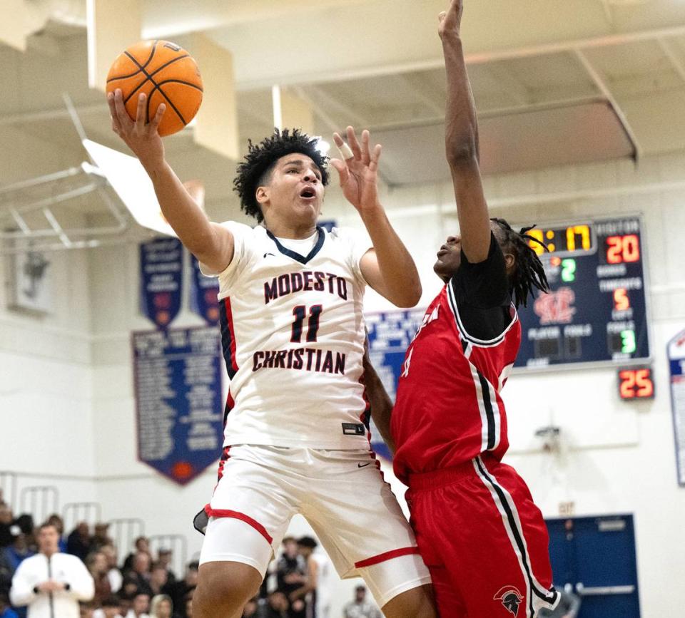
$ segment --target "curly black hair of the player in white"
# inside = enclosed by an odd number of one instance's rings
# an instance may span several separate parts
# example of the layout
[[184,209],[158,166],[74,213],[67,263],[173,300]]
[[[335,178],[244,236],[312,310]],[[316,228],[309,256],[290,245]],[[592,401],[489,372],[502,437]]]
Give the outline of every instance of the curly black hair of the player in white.
[[264,184],[278,159],[292,153],[302,153],[313,160],[321,172],[321,182],[324,186],[328,185],[328,157],[317,150],[316,143],[316,138],[302,133],[300,129],[274,129],[273,135],[257,145],[248,140],[248,154],[238,164],[238,175],[233,180],[233,190],[240,197],[240,210],[260,223],[264,220],[255,197],[257,187]]

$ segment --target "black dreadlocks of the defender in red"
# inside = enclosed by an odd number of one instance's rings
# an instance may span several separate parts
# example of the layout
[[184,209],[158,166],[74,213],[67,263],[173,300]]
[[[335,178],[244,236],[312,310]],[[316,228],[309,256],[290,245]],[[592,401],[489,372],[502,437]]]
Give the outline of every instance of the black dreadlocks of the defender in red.
[[527,233],[535,227],[534,225],[522,227],[520,232],[515,232],[504,219],[493,218],[492,221],[497,223],[502,231],[504,249],[513,253],[516,258],[514,272],[511,276],[514,304],[517,307],[520,304],[526,307],[528,295],[532,294],[533,287],[537,287],[542,292],[549,292],[544,267],[537,257],[537,253],[531,249],[529,241],[541,245],[545,251],[547,251],[547,246]]

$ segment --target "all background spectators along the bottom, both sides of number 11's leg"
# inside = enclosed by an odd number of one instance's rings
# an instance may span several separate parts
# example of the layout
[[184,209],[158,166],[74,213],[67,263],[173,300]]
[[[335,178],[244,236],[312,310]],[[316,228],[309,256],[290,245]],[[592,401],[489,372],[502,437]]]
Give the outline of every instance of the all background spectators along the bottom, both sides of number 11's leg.
[[[311,537],[285,537],[283,551],[271,563],[259,594],[245,606],[243,618],[332,618],[332,565],[315,547]],[[31,567],[31,558],[40,565]],[[177,577],[171,559],[171,550],[161,548],[153,555],[148,539],[138,537],[120,562],[108,524],[91,530],[78,522],[65,535],[59,515],[35,526],[31,515],[14,517],[0,495],[0,618],[71,617],[67,609],[55,614],[60,598],[73,603],[75,618],[192,618],[198,563],[190,562],[183,577]],[[49,572],[51,560],[66,565],[59,567],[59,576]],[[27,577],[36,568],[44,569],[44,575]],[[380,617],[365,599],[364,587],[355,594],[345,618]]]

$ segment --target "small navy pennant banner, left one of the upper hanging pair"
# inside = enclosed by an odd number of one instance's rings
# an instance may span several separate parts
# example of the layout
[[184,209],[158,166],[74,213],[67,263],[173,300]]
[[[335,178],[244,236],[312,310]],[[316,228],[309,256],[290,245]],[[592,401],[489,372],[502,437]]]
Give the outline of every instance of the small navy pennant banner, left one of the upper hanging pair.
[[141,244],[140,257],[141,313],[166,329],[181,311],[183,245],[178,238],[156,238]]

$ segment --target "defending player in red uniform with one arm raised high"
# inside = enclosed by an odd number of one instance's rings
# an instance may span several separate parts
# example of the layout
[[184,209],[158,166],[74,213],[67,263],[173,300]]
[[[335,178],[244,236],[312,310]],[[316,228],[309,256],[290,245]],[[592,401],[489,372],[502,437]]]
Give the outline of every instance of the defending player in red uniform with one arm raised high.
[[[544,520],[524,481],[501,463],[500,395],[521,341],[516,306],[547,290],[527,230],[489,219],[476,113],[460,23],[462,0],[440,15],[447,68],[447,159],[460,235],[437,254],[445,287],[407,349],[392,410],[367,364],[372,416],[409,485],[417,543],[442,618],[532,618],[555,607]],[[529,229],[529,228],[528,228]],[[512,302],[513,301],[513,302]]]

